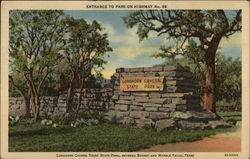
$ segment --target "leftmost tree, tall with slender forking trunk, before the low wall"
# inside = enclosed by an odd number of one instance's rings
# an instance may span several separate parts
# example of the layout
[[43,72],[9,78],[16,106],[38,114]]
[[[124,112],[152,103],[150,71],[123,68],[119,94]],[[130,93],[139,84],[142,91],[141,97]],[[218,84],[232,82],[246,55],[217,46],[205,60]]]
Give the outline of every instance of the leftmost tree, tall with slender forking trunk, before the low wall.
[[[61,58],[65,43],[65,15],[55,10],[13,10],[9,22],[9,79],[18,90],[21,86],[12,76],[18,73],[25,81],[36,121],[41,89]],[[22,91],[19,92],[25,97]]]

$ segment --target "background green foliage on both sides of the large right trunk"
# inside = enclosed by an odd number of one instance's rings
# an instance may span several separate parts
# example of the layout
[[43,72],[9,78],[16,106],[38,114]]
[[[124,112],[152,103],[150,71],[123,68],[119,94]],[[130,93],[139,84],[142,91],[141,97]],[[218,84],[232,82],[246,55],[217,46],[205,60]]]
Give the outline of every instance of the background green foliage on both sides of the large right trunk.
[[[193,52],[194,53],[194,52]],[[203,56],[185,54],[180,58],[166,58],[161,66],[173,65],[187,67],[194,75],[196,93],[203,95],[205,83],[205,64]],[[197,54],[199,55],[199,54]],[[158,65],[159,66],[159,65]],[[216,100],[226,100],[229,105],[241,106],[241,60],[233,59],[224,55],[216,56]],[[218,106],[221,102],[217,102]],[[224,104],[223,104],[224,105]]]

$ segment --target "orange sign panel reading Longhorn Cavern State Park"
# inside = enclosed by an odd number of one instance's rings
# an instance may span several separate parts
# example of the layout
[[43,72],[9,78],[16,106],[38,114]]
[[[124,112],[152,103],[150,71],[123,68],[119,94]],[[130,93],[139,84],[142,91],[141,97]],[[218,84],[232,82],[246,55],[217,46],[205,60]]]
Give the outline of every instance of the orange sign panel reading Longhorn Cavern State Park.
[[162,91],[164,77],[124,77],[120,79],[122,91]]

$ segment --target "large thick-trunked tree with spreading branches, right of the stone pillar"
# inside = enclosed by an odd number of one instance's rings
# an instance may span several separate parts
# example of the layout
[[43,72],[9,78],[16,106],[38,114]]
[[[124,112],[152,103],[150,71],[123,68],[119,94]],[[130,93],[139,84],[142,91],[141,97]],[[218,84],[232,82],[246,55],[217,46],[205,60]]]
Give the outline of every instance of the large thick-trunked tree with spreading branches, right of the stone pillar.
[[147,10],[135,11],[124,17],[127,27],[138,26],[140,40],[148,38],[151,31],[164,34],[176,42],[175,46],[161,46],[161,57],[187,54],[186,48],[195,42],[204,53],[205,92],[204,107],[215,109],[215,57],[222,38],[241,31],[241,10]]

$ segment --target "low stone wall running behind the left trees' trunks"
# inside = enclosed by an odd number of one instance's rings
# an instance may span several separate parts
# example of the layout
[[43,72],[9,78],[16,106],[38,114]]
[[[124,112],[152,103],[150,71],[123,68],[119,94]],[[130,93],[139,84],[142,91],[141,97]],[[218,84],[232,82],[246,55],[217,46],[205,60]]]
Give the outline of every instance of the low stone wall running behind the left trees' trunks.
[[[79,93],[76,91],[72,101],[73,108],[76,107],[78,95]],[[113,91],[111,88],[84,89],[80,112],[106,112],[109,106],[113,103],[110,101],[112,95]],[[57,116],[66,113],[66,94],[62,94],[59,97],[43,96],[40,98],[40,102],[41,116]],[[9,98],[9,115],[25,115],[25,104],[23,98]]]

